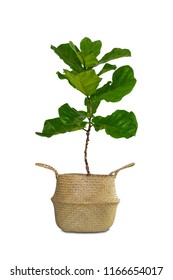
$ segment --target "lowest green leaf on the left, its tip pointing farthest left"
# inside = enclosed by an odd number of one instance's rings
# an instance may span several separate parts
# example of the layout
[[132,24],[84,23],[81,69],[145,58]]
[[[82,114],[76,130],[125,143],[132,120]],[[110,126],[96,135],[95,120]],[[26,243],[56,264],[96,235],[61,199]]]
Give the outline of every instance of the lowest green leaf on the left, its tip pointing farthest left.
[[86,122],[80,122],[78,124],[64,124],[60,118],[46,120],[42,132],[36,132],[39,136],[52,137],[57,134],[71,132],[83,129],[86,126]]

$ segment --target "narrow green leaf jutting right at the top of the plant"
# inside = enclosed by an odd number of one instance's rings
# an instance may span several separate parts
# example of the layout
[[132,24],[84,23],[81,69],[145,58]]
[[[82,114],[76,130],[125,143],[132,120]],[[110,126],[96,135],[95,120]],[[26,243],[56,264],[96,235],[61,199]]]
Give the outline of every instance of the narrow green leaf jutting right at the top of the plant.
[[114,48],[111,52],[108,52],[100,59],[99,64],[126,56],[131,56],[131,52],[128,49]]

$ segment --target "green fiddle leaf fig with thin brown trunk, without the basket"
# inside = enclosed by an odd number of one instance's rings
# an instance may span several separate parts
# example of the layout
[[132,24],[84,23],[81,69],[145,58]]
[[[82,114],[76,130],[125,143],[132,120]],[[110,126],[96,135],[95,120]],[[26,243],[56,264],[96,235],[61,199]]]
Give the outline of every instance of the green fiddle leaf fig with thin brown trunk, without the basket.
[[[67,80],[72,87],[84,95],[86,110],[78,111],[66,103],[58,109],[58,116],[44,122],[42,132],[36,132],[39,136],[52,137],[60,133],[85,131],[84,160],[88,175],[90,168],[87,151],[92,128],[95,131],[105,130],[113,138],[130,138],[135,136],[138,127],[133,112],[116,110],[106,117],[96,115],[102,100],[119,102],[136,84],[133,69],[129,65],[117,68],[116,65],[108,63],[111,60],[131,56],[130,51],[114,48],[98,58],[101,47],[100,40],[92,42],[87,37],[82,39],[79,48],[71,41],[58,47],[51,46],[51,49],[68,66],[63,73],[58,71],[57,76]],[[102,65],[101,70],[98,70],[100,65]],[[108,71],[113,71],[112,80],[100,86],[103,75]]]

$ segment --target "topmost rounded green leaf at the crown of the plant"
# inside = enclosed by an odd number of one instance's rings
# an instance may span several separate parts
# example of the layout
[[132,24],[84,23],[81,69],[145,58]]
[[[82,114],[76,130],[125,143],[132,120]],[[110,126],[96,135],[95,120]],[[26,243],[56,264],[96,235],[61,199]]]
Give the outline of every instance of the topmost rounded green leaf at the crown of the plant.
[[89,54],[93,53],[95,57],[100,54],[102,42],[100,40],[92,42],[91,39],[85,37],[80,42],[80,49],[82,52]]

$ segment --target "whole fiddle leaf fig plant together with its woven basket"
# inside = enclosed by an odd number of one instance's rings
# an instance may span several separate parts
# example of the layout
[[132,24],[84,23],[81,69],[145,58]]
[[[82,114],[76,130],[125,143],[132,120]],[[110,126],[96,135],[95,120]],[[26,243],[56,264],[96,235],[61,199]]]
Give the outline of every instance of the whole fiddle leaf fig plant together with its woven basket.
[[[85,37],[78,48],[73,42],[61,44],[51,49],[69,67],[63,73],[56,74],[66,80],[84,96],[86,110],[76,110],[69,104],[62,105],[59,116],[44,122],[39,136],[52,137],[60,133],[83,130],[86,133],[84,162],[86,174],[58,174],[53,167],[36,163],[55,172],[57,185],[52,202],[55,209],[57,225],[68,232],[101,232],[106,231],[114,222],[119,199],[115,190],[117,173],[134,163],[111,172],[108,175],[91,174],[88,163],[88,144],[92,129],[105,130],[113,138],[130,138],[136,134],[137,120],[133,112],[116,110],[103,117],[97,115],[102,100],[119,102],[129,94],[136,84],[133,69],[129,65],[117,68],[108,63],[121,57],[131,56],[128,49],[113,48],[98,58],[102,42],[91,41]],[[99,69],[100,66],[101,68]],[[99,70],[98,70],[99,69]],[[99,86],[102,76],[113,71],[112,81]]]

